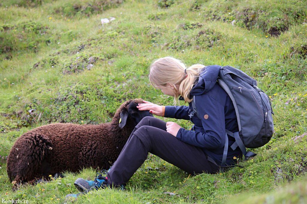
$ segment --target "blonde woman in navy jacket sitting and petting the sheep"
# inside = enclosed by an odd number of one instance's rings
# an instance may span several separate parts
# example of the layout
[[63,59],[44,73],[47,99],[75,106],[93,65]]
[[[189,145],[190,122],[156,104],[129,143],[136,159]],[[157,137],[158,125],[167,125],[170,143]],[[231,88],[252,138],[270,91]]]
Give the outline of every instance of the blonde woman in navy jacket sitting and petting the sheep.
[[[165,122],[155,117],[145,117],[138,123],[107,176],[94,181],[79,179],[75,182],[81,191],[91,187],[123,186],[142,165],[148,153],[194,175],[216,173],[220,170],[225,143],[225,128],[238,131],[235,109],[227,93],[216,83],[220,66],[185,65],[173,57],[159,58],[150,65],[149,80],[156,89],[174,97],[174,104],[185,100],[189,106],[159,106],[148,101],[138,104],[139,110],[162,117],[191,120],[191,130],[175,122]],[[195,96],[198,118],[191,119],[192,98]],[[228,146],[234,138],[228,137]],[[226,165],[236,163],[242,156],[237,147],[228,148]],[[212,160],[208,161],[208,157]],[[216,164],[212,163],[215,162]],[[94,184],[95,183],[95,184]]]

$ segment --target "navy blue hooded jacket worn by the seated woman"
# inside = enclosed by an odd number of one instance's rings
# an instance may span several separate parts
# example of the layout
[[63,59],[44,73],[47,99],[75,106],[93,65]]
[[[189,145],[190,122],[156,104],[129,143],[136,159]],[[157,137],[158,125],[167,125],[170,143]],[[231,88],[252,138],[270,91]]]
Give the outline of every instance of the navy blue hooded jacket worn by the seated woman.
[[[220,67],[219,65],[207,66],[200,72],[198,82],[196,78],[190,91],[190,97],[192,98],[195,95],[197,112],[203,117],[198,118],[194,114],[191,118],[192,123],[194,123],[191,130],[180,128],[176,135],[177,139],[185,143],[202,147],[205,154],[216,161],[218,165],[221,164],[223,157],[225,127],[231,132],[239,131],[231,99],[216,82]],[[189,106],[165,106],[164,117],[190,120],[189,110],[193,110],[192,102],[189,102]],[[208,115],[208,117],[205,115]],[[228,136],[228,140],[226,165],[232,165],[236,163],[233,157],[241,157],[242,152],[239,147],[235,150],[230,148],[235,142],[234,138]]]

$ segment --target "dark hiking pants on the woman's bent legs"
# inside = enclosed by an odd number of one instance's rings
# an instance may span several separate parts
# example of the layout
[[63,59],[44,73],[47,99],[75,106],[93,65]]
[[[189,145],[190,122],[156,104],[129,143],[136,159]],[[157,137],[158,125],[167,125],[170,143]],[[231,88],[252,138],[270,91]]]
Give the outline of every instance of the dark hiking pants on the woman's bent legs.
[[216,173],[219,166],[207,161],[200,147],[182,142],[166,132],[166,122],[144,117],[134,128],[119,157],[107,173],[110,186],[125,185],[146,160],[148,152],[194,175]]

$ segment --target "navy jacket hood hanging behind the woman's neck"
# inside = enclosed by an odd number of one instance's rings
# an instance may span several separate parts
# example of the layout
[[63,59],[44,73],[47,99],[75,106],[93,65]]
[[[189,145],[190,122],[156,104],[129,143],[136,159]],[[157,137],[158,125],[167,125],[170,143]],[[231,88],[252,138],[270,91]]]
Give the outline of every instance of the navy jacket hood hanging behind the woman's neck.
[[192,87],[190,95],[205,94],[212,89],[219,76],[220,68],[220,65],[210,65],[204,67],[200,72],[198,82]]

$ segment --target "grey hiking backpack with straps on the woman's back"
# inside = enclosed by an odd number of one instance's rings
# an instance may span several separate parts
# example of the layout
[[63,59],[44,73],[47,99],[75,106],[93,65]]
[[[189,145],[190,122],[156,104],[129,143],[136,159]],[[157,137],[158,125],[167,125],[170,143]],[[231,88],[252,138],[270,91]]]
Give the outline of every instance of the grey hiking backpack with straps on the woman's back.
[[[270,98],[257,87],[257,81],[241,70],[228,65],[223,66],[220,68],[217,82],[231,98],[239,127],[239,132],[226,130],[223,159],[220,165],[220,167],[226,167],[227,134],[235,138],[231,149],[235,150],[239,146],[245,160],[256,156],[253,152],[247,152],[245,147],[262,147],[270,141],[274,131],[272,117],[274,113]],[[197,115],[195,96],[193,96],[192,107],[193,111],[190,117],[195,113]],[[215,163],[212,158],[208,158],[208,160]]]

